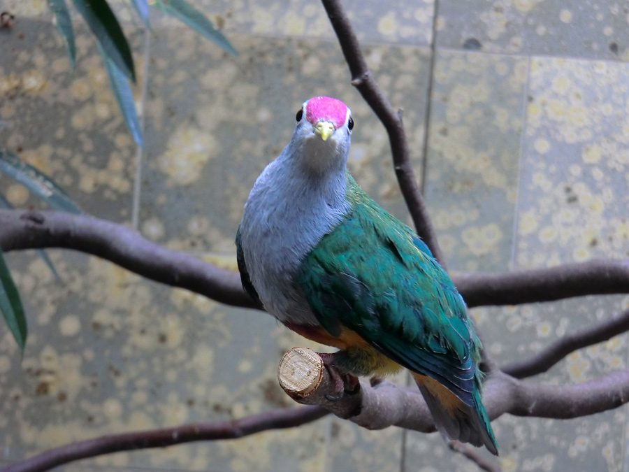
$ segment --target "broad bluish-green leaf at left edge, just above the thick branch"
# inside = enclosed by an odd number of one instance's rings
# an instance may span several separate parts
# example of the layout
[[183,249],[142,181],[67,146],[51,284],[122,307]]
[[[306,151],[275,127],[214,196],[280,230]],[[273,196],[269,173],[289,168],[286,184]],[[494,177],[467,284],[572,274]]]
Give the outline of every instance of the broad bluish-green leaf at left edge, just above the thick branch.
[[79,206],[45,173],[22,162],[13,152],[0,150],[0,172],[27,187],[32,194],[56,210],[76,215],[83,213]]

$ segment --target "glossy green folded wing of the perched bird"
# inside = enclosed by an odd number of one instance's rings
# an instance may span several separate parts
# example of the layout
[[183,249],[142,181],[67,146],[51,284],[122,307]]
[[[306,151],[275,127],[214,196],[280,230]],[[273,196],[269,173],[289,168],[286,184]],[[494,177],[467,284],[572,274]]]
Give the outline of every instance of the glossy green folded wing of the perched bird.
[[387,357],[477,401],[479,341],[461,295],[426,245],[348,176],[352,210],[301,265],[298,283],[323,327],[356,331]]

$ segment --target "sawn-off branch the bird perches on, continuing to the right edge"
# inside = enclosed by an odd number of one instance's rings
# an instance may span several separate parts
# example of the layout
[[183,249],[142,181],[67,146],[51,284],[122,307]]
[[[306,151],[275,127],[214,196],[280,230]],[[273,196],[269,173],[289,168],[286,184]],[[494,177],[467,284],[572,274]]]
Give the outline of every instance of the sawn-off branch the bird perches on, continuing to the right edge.
[[[308,357],[300,362],[310,362]],[[287,393],[299,403],[321,406],[368,429],[398,426],[425,433],[435,431],[431,413],[419,389],[388,381],[375,386],[361,382],[358,392],[339,394],[335,383],[326,379],[330,375],[329,368],[321,359],[312,360],[306,370],[320,369],[323,380],[315,381],[314,389],[308,387],[307,394]],[[280,385],[283,384],[281,377],[280,373]],[[319,378],[318,375],[310,377]],[[612,410],[628,401],[629,369],[576,385],[535,385],[496,371],[487,376],[483,395],[491,420],[505,413],[566,420]]]

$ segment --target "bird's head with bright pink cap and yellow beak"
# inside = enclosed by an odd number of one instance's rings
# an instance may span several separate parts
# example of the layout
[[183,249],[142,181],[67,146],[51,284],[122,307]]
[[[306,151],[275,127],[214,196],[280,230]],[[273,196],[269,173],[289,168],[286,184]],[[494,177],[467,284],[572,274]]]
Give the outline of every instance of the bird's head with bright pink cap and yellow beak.
[[312,173],[340,170],[347,163],[354,120],[345,103],[328,96],[303,102],[291,139],[292,152]]

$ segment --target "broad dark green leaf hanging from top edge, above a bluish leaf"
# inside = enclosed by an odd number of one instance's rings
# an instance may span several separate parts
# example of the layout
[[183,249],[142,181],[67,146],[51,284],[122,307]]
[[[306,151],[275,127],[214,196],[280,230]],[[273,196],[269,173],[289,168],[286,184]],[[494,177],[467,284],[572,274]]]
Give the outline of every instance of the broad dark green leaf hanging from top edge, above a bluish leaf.
[[73,0],[74,6],[85,18],[99,44],[125,76],[136,81],[136,70],[129,43],[126,42],[120,23],[105,0]]

